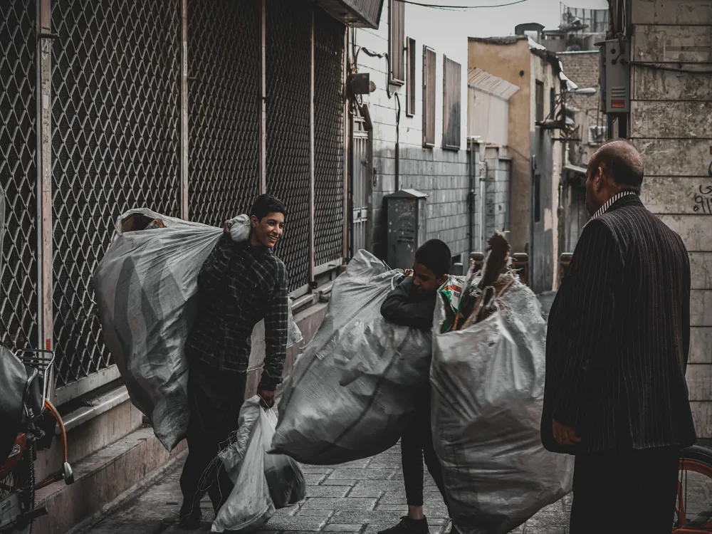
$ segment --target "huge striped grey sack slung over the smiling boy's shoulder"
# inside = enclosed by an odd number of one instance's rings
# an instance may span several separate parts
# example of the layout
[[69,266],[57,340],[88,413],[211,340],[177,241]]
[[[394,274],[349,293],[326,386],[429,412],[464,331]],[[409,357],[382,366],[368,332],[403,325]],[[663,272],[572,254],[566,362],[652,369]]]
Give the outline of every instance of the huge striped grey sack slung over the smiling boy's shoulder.
[[[134,231],[136,217],[163,228]],[[150,226],[156,226],[152,224]],[[231,237],[245,241],[248,216],[232,219]],[[149,209],[120,216],[115,235],[93,276],[104,340],[130,398],[150,418],[171,451],[188,427],[188,362],[184,346],[197,307],[198,273],[223,230]],[[288,346],[301,340],[290,309]],[[251,363],[261,365],[264,325],[253,330]]]

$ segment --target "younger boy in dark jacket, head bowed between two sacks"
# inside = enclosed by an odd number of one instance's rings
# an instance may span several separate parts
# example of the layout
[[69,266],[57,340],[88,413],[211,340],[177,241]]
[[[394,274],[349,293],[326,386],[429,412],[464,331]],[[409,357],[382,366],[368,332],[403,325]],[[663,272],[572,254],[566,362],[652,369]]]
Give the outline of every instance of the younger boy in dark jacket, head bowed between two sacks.
[[[426,241],[415,252],[413,268],[406,278],[388,295],[381,305],[384,319],[397,325],[429,332],[438,298],[438,289],[448,278],[452,255],[439,239]],[[429,358],[429,354],[422,355]],[[415,414],[401,438],[401,461],[408,503],[408,515],[379,534],[429,534],[428,520],[423,512],[423,459],[447,505],[440,461],[435,455],[430,429],[430,384],[417,396]],[[453,525],[451,533],[456,534]]]

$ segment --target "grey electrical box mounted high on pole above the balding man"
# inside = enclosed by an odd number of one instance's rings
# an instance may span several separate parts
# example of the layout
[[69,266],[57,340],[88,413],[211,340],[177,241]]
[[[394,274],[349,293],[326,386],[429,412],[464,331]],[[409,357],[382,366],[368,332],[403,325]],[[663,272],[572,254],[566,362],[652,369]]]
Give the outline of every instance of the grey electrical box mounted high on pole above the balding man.
[[601,111],[630,112],[630,43],[611,39],[596,43],[600,53]]

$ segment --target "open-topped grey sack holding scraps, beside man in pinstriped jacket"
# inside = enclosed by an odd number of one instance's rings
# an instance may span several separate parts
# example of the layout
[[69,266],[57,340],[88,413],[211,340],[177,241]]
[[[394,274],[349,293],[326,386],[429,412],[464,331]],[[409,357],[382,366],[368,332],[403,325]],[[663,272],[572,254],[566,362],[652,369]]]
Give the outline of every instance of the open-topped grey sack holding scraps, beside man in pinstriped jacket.
[[456,527],[506,533],[565,496],[571,456],[540,440],[546,325],[534,293],[519,281],[481,323],[440,333],[434,318],[432,429]]

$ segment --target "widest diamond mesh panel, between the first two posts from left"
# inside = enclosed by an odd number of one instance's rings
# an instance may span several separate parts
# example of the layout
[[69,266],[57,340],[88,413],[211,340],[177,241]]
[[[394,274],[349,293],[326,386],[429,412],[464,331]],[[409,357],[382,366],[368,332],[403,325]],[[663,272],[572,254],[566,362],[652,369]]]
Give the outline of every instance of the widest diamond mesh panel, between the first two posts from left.
[[54,337],[58,386],[110,365],[90,278],[126,209],[179,215],[174,0],[56,0]]

